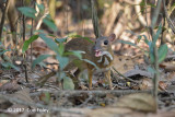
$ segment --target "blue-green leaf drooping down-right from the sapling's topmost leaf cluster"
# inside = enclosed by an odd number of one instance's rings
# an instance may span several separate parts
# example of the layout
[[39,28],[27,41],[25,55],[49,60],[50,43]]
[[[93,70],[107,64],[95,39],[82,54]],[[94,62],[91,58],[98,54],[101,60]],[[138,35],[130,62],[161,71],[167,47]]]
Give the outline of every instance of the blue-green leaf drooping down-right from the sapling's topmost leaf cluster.
[[54,23],[54,21],[52,20],[49,20],[48,17],[45,17],[44,20],[43,20],[43,22],[50,28],[50,30],[52,30],[54,32],[57,32],[57,26],[56,26],[56,24]]

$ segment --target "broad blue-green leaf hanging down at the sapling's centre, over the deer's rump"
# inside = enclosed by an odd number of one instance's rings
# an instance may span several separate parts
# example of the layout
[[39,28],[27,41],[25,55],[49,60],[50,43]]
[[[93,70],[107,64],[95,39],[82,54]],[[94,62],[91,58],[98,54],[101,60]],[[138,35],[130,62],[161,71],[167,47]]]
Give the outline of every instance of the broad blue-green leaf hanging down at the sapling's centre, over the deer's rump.
[[63,70],[63,68],[69,63],[69,58],[68,57],[61,57],[59,55],[57,55],[56,58],[59,61],[60,70]]

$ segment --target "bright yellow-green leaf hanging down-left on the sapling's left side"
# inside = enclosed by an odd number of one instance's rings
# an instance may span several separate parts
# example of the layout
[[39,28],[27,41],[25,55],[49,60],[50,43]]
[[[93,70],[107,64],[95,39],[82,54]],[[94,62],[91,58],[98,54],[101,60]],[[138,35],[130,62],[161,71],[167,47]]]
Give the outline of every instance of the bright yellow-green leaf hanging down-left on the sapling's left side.
[[38,35],[33,35],[30,37],[30,39],[25,40],[22,48],[22,52],[25,52],[28,49],[30,44],[36,40],[37,38],[38,38]]

